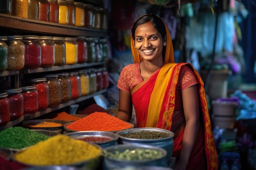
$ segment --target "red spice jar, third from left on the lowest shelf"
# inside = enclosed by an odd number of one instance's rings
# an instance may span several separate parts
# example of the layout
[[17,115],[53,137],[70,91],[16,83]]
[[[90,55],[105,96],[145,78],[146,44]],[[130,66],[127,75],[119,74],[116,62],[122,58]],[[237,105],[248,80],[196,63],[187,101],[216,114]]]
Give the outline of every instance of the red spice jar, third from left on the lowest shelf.
[[23,108],[24,115],[35,114],[38,111],[38,93],[36,91],[36,86],[23,86],[22,95],[23,95]]

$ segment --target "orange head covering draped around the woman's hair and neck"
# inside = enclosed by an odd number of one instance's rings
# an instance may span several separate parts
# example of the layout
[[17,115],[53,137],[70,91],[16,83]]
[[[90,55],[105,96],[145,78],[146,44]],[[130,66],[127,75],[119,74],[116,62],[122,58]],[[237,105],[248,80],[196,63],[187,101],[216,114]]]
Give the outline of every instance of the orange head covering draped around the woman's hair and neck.
[[[144,15],[148,15],[148,14],[144,14]],[[141,15],[139,18],[141,18],[141,17],[144,16],[144,15]],[[150,15],[154,15],[154,14],[150,14]],[[157,16],[157,15],[155,15],[155,16]],[[159,17],[159,16],[157,16],[157,17]],[[138,18],[138,19],[139,19],[139,18]],[[169,62],[173,62],[173,63],[174,63],[173,42],[172,42],[172,40],[171,40],[171,35],[170,35],[169,29],[168,29],[166,23],[164,22],[164,20],[163,20],[161,17],[159,17],[159,18],[160,18],[160,19],[162,20],[162,22],[164,23],[165,30],[166,30],[166,39],[167,39],[167,40],[166,40],[166,53],[165,53],[164,64],[169,63]],[[138,19],[137,19],[137,20],[138,20]],[[136,21],[137,21],[137,20],[136,20]],[[136,21],[135,21],[135,22],[136,22]],[[135,22],[134,22],[134,23],[135,23]],[[133,24],[134,24],[134,23],[133,23]],[[134,63],[141,62],[143,59],[142,59],[142,57],[139,55],[139,53],[137,52],[137,50],[135,49],[135,46],[134,46],[135,41],[133,40],[133,37],[132,37],[132,31],[131,31],[130,40],[131,40],[131,50],[132,50],[133,61],[134,61]]]

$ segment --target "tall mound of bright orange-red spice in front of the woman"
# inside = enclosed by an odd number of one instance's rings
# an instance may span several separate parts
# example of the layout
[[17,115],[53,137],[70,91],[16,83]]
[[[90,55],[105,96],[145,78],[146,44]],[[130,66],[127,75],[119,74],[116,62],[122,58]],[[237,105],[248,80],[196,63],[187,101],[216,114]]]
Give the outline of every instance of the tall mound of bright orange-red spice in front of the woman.
[[94,112],[80,120],[74,121],[67,125],[70,130],[87,131],[116,131],[132,128],[132,125],[128,124],[117,117],[108,115],[104,112]]

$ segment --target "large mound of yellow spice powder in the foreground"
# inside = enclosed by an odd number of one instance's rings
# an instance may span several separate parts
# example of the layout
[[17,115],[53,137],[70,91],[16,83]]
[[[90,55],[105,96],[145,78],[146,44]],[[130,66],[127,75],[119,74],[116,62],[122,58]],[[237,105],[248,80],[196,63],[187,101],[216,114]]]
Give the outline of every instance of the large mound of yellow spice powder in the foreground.
[[56,135],[18,152],[14,158],[30,165],[67,165],[97,158],[100,153],[101,149],[92,144]]

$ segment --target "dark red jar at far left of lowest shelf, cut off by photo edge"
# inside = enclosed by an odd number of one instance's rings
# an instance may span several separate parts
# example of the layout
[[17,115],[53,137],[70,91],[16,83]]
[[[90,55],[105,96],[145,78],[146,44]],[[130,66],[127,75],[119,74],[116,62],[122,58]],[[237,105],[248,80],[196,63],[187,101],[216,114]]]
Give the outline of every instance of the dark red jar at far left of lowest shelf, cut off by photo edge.
[[0,92],[0,126],[10,121],[10,101],[6,92]]

